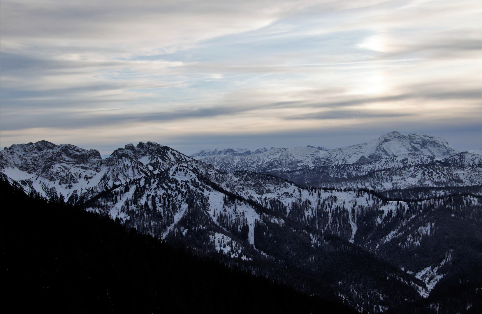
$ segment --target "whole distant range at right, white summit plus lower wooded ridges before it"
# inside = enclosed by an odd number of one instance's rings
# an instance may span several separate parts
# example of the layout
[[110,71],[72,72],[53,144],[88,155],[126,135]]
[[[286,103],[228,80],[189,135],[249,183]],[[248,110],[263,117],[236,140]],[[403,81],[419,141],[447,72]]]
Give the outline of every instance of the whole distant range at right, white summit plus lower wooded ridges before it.
[[482,181],[481,150],[458,152],[443,138],[422,133],[404,136],[394,131],[333,150],[307,146],[245,155],[230,154],[229,150],[211,155],[201,152],[191,157],[220,171],[272,174],[302,186],[386,190],[477,185]]

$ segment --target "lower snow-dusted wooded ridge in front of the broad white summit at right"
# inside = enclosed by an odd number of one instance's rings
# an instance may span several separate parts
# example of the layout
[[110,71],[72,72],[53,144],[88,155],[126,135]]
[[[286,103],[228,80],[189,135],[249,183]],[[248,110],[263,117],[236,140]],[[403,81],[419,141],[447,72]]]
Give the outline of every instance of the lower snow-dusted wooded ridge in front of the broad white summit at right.
[[405,154],[370,163],[311,167],[277,173],[301,186],[388,190],[413,187],[473,186],[482,182],[481,155],[467,151],[452,157]]

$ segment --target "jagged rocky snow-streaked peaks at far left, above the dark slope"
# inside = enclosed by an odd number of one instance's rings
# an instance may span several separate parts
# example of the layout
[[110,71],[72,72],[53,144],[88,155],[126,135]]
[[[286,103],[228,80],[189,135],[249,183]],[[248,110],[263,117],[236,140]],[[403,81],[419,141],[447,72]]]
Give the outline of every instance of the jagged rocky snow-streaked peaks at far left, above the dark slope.
[[85,200],[106,187],[154,175],[191,158],[154,142],[128,144],[102,159],[96,150],[47,141],[12,145],[0,151],[5,175],[47,197]]

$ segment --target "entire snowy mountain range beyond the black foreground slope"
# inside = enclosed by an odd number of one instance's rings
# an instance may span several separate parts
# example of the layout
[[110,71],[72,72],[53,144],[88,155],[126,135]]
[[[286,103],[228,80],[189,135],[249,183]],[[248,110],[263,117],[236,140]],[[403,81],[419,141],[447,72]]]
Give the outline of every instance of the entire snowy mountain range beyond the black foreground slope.
[[[402,313],[411,304],[423,313],[480,306],[480,157],[398,132],[327,151],[192,157],[140,142],[102,159],[40,141],[0,151],[0,170],[27,193],[359,311]],[[409,189],[394,188],[397,180]],[[446,287],[456,285],[464,294],[447,301]]]

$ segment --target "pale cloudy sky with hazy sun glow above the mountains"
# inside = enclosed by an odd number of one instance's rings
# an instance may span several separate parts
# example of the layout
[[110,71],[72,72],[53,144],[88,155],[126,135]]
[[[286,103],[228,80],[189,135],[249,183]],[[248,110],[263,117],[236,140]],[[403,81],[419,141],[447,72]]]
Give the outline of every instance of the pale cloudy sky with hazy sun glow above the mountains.
[[0,147],[482,148],[479,0],[0,1]]

